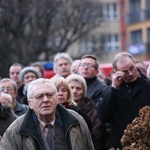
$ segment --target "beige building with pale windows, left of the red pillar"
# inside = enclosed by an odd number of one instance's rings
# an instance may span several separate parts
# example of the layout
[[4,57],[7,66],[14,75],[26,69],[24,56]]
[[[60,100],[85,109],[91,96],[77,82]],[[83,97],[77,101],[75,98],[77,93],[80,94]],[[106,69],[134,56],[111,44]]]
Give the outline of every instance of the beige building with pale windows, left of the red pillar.
[[[89,34],[86,41],[79,41],[70,47],[68,53],[74,58],[83,54],[96,54],[101,63],[112,62],[114,55],[122,50],[120,39],[120,3],[119,0],[97,0],[100,2],[101,23]],[[93,36],[94,35],[94,36]],[[96,39],[93,39],[96,38]],[[99,45],[101,43],[101,45]],[[97,46],[98,51],[93,47]]]

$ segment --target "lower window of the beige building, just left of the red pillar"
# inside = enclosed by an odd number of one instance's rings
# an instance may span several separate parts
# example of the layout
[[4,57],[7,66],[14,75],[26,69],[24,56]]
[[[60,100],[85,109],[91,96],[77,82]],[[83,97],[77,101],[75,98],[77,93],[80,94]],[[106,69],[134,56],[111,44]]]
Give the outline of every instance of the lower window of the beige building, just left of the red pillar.
[[104,51],[116,52],[120,49],[118,34],[104,36]]

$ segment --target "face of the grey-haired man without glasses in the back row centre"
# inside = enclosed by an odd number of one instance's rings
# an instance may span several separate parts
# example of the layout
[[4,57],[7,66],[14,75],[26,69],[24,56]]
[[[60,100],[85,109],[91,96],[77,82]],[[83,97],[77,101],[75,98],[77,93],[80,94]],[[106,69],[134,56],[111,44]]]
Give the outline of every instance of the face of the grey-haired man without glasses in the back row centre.
[[67,59],[61,58],[57,61],[56,72],[60,74],[62,77],[66,78],[70,75],[70,67],[71,64]]

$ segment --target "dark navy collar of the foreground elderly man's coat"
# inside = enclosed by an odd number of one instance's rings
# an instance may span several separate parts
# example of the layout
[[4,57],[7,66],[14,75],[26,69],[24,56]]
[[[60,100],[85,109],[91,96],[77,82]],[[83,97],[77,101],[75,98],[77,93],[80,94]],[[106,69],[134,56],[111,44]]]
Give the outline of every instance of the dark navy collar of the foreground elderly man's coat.
[[[65,133],[69,127],[79,123],[79,121],[60,104],[57,105],[57,111],[59,112],[61,118],[63,118],[62,121]],[[32,136],[36,140],[37,145],[44,147],[42,149],[46,149],[45,144],[43,144],[43,137],[41,137],[39,121],[34,111],[30,108],[24,116],[19,133],[21,135]]]

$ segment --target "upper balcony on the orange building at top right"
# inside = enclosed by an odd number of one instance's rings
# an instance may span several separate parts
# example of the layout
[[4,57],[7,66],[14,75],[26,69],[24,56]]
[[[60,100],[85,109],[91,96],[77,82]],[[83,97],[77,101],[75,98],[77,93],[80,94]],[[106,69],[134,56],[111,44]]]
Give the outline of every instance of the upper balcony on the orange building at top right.
[[127,24],[143,22],[150,20],[150,10],[139,10],[127,15]]

